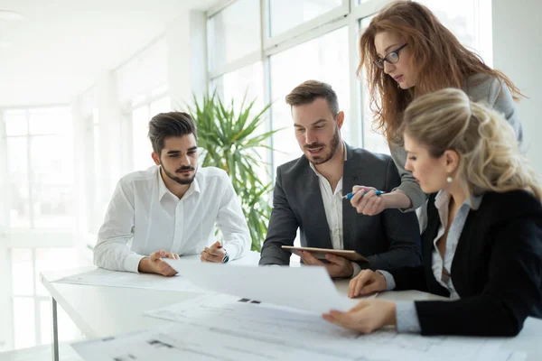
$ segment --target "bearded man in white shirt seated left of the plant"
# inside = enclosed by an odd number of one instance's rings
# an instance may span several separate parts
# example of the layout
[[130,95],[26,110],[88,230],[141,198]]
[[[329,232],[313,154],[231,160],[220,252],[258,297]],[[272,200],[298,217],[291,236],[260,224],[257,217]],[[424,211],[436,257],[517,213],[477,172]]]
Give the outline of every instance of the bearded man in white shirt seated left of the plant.
[[[226,263],[250,250],[250,234],[226,171],[198,168],[196,126],[186,113],[162,113],[149,123],[155,166],[117,184],[98,232],[94,264],[115,271],[175,271],[162,258],[201,253]],[[223,244],[214,242],[215,223]]]

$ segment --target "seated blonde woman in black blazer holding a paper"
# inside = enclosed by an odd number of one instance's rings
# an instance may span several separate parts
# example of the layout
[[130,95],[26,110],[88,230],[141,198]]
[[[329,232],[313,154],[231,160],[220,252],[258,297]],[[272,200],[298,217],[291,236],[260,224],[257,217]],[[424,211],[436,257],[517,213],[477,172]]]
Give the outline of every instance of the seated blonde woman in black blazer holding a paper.
[[447,88],[414,100],[406,169],[430,193],[424,264],[362,271],[350,297],[419,290],[453,301],[360,301],[324,319],[360,332],[514,336],[542,316],[542,189],[503,116]]

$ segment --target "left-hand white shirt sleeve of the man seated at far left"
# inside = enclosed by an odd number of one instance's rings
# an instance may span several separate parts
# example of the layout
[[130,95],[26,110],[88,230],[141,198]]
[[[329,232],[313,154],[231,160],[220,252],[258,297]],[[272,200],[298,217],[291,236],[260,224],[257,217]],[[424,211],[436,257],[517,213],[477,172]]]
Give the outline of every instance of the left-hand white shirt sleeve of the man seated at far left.
[[119,180],[98,231],[98,243],[94,247],[95,265],[113,271],[137,273],[144,255],[131,252],[127,245],[134,236],[134,219],[134,191]]

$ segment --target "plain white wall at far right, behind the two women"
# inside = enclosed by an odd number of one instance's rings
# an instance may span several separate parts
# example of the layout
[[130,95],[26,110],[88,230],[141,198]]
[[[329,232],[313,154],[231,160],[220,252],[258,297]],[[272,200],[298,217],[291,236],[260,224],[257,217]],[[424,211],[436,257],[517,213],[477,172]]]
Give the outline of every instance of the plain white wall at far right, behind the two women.
[[528,158],[542,174],[542,2],[492,0],[493,66],[528,99],[518,105]]

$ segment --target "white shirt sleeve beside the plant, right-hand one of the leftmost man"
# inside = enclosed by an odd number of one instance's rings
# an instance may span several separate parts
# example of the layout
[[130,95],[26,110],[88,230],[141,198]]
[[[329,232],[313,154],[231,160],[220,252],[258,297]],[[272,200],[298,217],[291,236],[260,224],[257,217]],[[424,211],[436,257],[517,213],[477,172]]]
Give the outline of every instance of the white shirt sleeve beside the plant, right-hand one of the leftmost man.
[[225,176],[222,182],[224,190],[220,199],[217,224],[224,236],[224,248],[228,251],[229,259],[234,260],[248,254],[252,240],[247,219],[231,180]]

